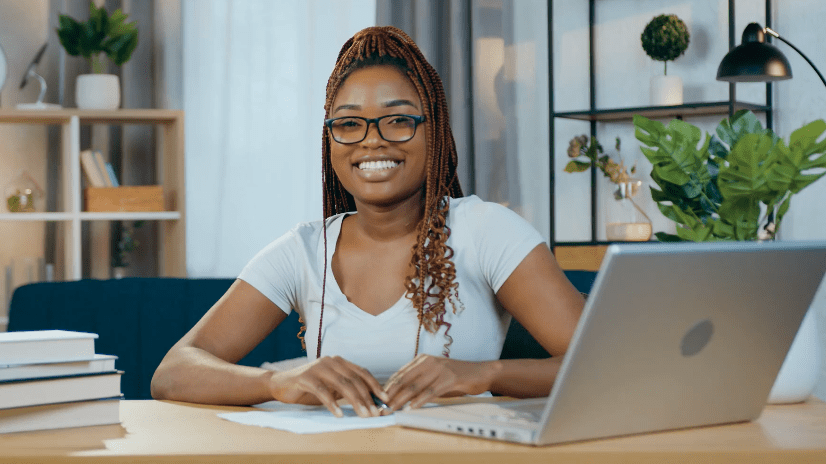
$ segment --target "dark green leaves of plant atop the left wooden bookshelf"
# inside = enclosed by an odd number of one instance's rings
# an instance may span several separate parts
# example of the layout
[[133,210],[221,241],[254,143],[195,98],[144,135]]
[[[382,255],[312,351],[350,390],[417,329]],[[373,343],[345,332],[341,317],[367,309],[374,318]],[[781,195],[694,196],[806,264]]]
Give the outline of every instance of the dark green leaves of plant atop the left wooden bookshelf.
[[115,10],[112,16],[103,7],[89,2],[89,20],[78,22],[67,15],[60,15],[57,36],[72,56],[83,56],[89,60],[92,72],[104,71],[101,53],[120,66],[129,61],[138,46],[138,29],[135,22],[125,22],[127,15]]

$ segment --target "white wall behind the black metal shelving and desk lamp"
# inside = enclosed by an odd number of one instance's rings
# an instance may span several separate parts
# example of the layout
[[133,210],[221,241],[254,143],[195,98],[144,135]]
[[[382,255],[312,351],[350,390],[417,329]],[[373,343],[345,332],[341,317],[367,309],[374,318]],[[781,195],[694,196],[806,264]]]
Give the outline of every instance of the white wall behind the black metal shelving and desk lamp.
[[[815,65],[826,71],[820,24],[826,18],[821,0],[775,1],[772,27],[802,49]],[[683,80],[686,102],[725,100],[728,84],[715,80],[717,66],[728,51],[728,2],[724,0],[615,0],[597,2],[596,11],[596,102],[598,108],[649,105],[649,79],[662,73],[662,63],[651,60],[640,45],[640,34],[648,21],[663,13],[674,13],[688,25],[691,42],[684,56],[669,63],[668,74]],[[762,0],[738,0],[736,43],[746,24],[765,25]],[[557,1],[554,4],[554,96],[557,111],[588,109],[588,11],[587,2]],[[774,85],[775,131],[788,140],[791,132],[807,122],[826,118],[826,87],[809,65],[790,47],[775,41],[791,63],[794,78]],[[765,85],[738,84],[738,100],[765,102]],[[691,118],[688,122],[713,133],[721,117]],[[667,121],[664,121],[667,122]],[[590,236],[589,184],[586,174],[562,171],[568,158],[570,138],[589,133],[586,122],[557,119],[555,132],[557,240],[587,240]],[[599,124],[603,145],[622,139],[626,160],[636,157],[638,172],[651,166],[639,151],[631,123]],[[647,178],[650,181],[650,178]],[[602,182],[604,192],[610,184]],[[783,240],[826,239],[826,180],[821,179],[794,197],[782,224]],[[673,230],[653,202],[647,210],[654,230]],[[601,214],[601,213],[600,213]],[[600,218],[601,219],[601,218]],[[599,237],[604,237],[601,223]],[[813,305],[818,314],[823,365],[816,394],[826,398],[826,289]]]

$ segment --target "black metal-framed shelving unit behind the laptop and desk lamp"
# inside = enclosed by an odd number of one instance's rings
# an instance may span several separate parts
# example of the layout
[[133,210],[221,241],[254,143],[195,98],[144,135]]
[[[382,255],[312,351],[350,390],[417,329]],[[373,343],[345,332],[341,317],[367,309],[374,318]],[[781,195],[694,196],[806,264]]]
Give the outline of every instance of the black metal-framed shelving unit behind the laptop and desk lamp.
[[[748,109],[756,113],[764,113],[766,115],[766,126],[772,127],[772,88],[771,83],[766,83],[766,103],[764,105],[756,105],[752,103],[740,102],[737,100],[736,87],[734,83],[729,84],[729,99],[725,101],[715,102],[696,102],[686,103],[683,105],[674,106],[641,106],[641,107],[627,107],[627,108],[611,108],[599,109],[596,106],[596,79],[594,76],[594,26],[595,26],[595,4],[597,0],[588,0],[588,40],[589,40],[589,80],[590,80],[590,108],[582,111],[567,111],[557,112],[554,107],[554,73],[553,73],[553,0],[548,2],[548,73],[550,76],[550,247],[557,255],[557,259],[563,268],[572,268],[581,263],[580,269],[596,270],[602,255],[605,253],[605,247],[612,242],[597,240],[597,169],[591,168],[591,191],[590,191],[590,206],[591,206],[591,237],[588,240],[575,242],[559,242],[556,240],[556,205],[554,192],[554,179],[556,178],[555,170],[555,153],[554,153],[554,136],[555,136],[555,119],[575,119],[581,121],[589,121],[591,123],[591,136],[597,135],[598,122],[618,122],[630,121],[635,114],[645,116],[649,119],[684,119],[691,117],[713,116],[713,115],[733,115],[736,111],[741,109]],[[735,0],[728,1],[728,28],[729,28],[729,49],[734,48],[736,40],[739,35],[736,31],[734,21],[734,7]],[[765,25],[771,27],[771,0],[765,0]],[[656,242],[654,242],[656,243]],[[596,267],[594,267],[596,266]]]

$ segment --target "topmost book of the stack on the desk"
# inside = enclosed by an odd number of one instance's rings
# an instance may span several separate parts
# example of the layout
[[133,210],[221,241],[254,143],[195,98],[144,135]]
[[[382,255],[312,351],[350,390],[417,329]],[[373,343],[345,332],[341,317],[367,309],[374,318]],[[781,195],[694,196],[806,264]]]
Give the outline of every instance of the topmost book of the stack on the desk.
[[97,334],[68,330],[0,333],[0,365],[83,361],[95,357]]

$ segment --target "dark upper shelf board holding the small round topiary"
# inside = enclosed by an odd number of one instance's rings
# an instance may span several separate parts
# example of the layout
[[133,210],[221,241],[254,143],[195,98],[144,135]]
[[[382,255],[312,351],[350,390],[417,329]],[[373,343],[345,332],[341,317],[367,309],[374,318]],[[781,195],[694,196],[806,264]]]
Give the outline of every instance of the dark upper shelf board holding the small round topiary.
[[[756,105],[753,103],[734,102],[734,111],[750,110],[753,112],[768,111],[766,105]],[[648,119],[674,119],[683,117],[728,115],[729,102],[706,102],[706,103],[685,103],[674,106],[639,106],[635,108],[614,108],[604,110],[589,111],[569,111],[554,113],[554,117],[565,119],[578,119],[582,121],[630,121],[635,114],[645,116]]]

